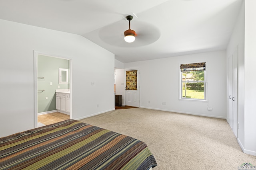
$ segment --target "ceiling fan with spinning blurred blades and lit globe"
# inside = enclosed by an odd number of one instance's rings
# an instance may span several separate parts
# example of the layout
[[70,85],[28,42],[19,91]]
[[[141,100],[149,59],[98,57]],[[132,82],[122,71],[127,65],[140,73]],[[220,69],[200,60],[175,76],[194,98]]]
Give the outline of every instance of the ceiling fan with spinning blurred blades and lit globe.
[[[99,29],[98,36],[103,42],[117,47],[140,47],[154,43],[159,39],[160,29],[152,21],[147,22],[144,21],[146,20],[145,18],[134,18],[131,15],[126,15],[122,18],[123,20]],[[129,29],[123,32],[122,30],[125,30],[124,20],[129,21]],[[131,20],[133,22],[132,28],[136,32],[130,28]]]

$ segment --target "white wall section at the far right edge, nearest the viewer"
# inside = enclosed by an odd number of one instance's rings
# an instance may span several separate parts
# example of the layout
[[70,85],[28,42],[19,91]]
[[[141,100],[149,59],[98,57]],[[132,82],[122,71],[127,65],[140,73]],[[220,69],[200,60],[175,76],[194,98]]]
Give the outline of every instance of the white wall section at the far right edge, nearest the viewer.
[[256,156],[256,1],[245,1],[244,32],[244,149]]

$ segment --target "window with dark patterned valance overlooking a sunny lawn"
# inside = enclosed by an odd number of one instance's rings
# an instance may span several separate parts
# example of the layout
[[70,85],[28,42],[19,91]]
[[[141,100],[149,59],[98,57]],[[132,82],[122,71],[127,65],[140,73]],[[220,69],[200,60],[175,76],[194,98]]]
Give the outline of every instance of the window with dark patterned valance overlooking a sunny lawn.
[[206,100],[205,68],[205,63],[192,63],[180,65],[181,99]]

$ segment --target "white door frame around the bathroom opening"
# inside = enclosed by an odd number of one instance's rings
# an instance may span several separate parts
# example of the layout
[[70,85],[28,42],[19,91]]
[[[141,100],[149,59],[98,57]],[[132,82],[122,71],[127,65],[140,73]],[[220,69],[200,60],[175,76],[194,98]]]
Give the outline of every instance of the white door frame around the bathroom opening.
[[[72,60],[68,57],[64,57],[64,56],[59,56],[59,55],[52,55],[52,54],[48,54],[48,53],[43,53],[40,51],[35,51],[34,50],[34,128],[37,127],[37,117],[38,117],[38,113],[37,113],[37,109],[38,109],[38,94],[37,94],[37,70],[38,70],[38,55],[44,55],[47,57],[54,57],[54,58],[58,58],[58,59],[66,59],[69,60],[69,68],[70,68],[70,76],[69,76],[69,80],[70,80],[70,94],[72,94]],[[70,95],[70,119],[72,119],[72,95]]]

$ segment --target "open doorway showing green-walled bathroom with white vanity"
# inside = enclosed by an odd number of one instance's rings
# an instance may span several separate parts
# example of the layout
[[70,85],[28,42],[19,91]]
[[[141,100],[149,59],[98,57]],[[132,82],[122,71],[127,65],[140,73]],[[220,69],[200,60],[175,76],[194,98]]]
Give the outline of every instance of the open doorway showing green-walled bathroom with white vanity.
[[[60,70],[68,70],[65,81]],[[70,59],[34,51],[34,84],[34,127],[71,119]],[[58,100],[62,102],[60,110]]]

